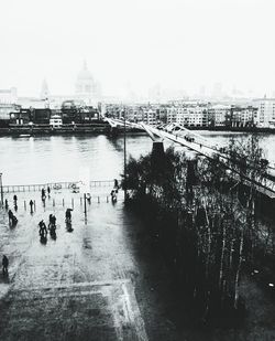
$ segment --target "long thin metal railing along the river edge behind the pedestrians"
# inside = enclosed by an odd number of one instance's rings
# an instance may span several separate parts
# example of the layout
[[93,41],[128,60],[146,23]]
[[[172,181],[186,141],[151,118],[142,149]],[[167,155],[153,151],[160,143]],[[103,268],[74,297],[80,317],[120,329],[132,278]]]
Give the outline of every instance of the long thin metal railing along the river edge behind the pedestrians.
[[[80,181],[69,181],[69,182],[47,182],[47,183],[36,183],[36,184],[10,184],[3,185],[3,193],[18,193],[18,192],[34,192],[41,191],[42,189],[46,190],[50,188],[51,190],[66,190],[66,189],[75,189],[81,184]],[[99,180],[99,181],[90,181],[90,188],[98,187],[113,187],[113,180]]]

